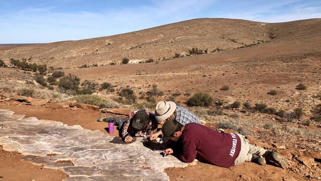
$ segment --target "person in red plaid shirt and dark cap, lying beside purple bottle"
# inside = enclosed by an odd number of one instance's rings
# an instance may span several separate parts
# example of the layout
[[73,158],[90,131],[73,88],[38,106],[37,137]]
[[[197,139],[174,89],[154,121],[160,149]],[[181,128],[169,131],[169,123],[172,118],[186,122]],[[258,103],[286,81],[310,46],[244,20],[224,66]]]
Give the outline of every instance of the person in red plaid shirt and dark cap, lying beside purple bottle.
[[154,113],[145,110],[132,111],[127,118],[101,116],[97,121],[114,121],[125,142],[133,141],[133,136],[149,138],[158,127]]

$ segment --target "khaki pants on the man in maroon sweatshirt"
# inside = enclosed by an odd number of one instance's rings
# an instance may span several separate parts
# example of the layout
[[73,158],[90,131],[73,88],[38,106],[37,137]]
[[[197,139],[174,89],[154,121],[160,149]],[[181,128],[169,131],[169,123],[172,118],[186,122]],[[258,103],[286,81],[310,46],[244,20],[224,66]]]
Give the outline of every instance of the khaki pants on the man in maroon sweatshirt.
[[240,165],[243,162],[250,162],[253,154],[262,156],[266,152],[263,148],[249,144],[248,140],[244,136],[239,134],[238,136],[241,140],[241,151],[239,156],[235,159],[234,165]]

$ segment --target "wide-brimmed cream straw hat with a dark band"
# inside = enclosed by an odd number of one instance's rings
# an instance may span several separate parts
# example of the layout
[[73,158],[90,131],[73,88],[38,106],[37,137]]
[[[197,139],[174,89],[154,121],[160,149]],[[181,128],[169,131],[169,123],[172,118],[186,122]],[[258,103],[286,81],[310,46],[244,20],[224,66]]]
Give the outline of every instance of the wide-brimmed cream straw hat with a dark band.
[[176,103],[172,101],[160,101],[156,105],[155,118],[157,121],[163,121],[167,119],[176,110]]

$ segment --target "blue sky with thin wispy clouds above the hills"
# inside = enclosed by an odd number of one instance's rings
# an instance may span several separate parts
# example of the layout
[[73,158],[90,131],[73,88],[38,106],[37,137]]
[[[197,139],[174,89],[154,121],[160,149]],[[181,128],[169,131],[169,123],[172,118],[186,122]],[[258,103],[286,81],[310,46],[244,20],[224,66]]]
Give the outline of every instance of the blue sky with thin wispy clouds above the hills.
[[204,17],[321,18],[321,0],[0,0],[0,44],[81,40]]

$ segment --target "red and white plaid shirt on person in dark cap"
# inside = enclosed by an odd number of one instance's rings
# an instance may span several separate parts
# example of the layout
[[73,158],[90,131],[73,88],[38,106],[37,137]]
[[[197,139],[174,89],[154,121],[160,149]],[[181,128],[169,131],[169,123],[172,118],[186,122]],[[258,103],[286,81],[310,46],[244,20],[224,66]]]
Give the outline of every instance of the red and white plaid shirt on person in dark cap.
[[151,136],[154,132],[157,131],[158,122],[155,119],[155,116],[152,112],[147,111],[148,114],[148,122],[143,126],[142,130],[136,132],[136,130],[131,126],[133,122],[133,117],[136,114],[138,110],[132,111],[129,113],[129,116],[127,117],[124,126],[122,128],[121,136],[122,138],[125,138],[126,136],[136,136],[136,137],[145,137],[148,138]]

